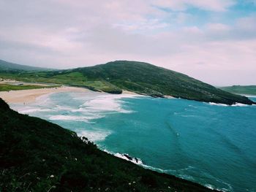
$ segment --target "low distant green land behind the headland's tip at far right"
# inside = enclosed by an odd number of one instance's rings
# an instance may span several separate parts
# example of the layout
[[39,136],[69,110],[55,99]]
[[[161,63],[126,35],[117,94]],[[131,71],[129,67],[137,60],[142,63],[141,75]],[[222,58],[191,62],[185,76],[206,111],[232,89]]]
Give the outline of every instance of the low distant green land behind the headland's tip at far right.
[[256,85],[233,85],[230,87],[222,87],[221,89],[230,93],[256,95]]

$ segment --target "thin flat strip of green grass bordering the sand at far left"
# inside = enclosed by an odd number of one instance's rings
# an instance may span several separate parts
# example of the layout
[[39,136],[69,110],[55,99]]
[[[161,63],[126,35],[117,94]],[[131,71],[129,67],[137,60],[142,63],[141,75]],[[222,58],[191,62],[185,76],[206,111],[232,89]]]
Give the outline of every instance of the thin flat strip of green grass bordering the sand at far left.
[[26,89],[35,89],[35,88],[56,88],[58,86],[53,85],[11,85],[0,83],[0,91],[17,91],[17,90],[26,90]]

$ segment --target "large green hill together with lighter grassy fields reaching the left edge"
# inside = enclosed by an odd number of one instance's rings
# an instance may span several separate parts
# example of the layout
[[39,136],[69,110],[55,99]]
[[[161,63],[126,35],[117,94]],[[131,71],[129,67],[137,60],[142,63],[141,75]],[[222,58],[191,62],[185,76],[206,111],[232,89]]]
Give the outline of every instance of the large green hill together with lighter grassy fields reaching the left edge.
[[50,72],[4,73],[0,71],[0,77],[26,82],[82,86],[108,93],[121,93],[122,90],[127,90],[150,96],[169,95],[223,104],[254,103],[245,96],[222,91],[186,74],[137,61],[113,61],[97,66]]

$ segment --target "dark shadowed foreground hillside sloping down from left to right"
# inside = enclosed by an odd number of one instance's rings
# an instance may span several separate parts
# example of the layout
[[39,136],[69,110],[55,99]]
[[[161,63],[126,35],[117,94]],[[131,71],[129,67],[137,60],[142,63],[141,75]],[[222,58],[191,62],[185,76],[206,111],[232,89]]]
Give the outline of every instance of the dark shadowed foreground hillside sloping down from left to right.
[[98,150],[0,99],[0,191],[211,191]]

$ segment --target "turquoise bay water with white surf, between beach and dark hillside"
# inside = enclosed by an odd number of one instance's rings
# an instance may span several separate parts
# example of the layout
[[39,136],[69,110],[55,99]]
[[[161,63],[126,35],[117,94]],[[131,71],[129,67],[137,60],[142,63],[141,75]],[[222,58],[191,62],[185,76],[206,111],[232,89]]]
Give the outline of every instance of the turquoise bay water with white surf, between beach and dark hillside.
[[[256,99],[256,98],[251,98]],[[102,150],[222,191],[256,191],[256,106],[105,93],[54,93],[12,105]]]

